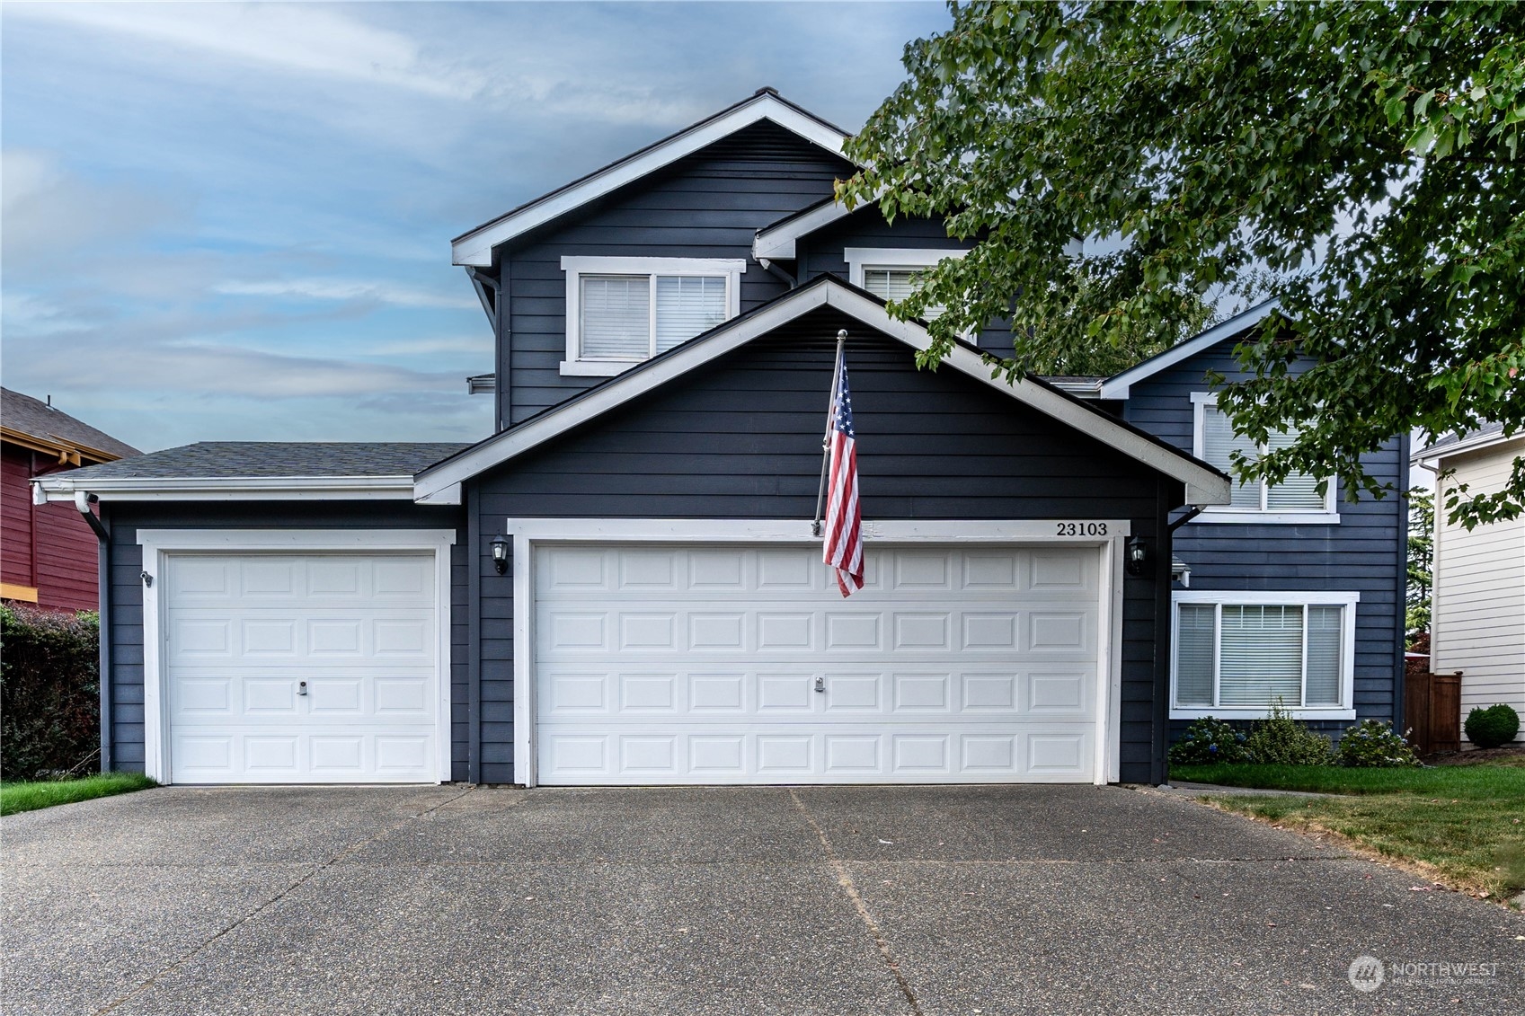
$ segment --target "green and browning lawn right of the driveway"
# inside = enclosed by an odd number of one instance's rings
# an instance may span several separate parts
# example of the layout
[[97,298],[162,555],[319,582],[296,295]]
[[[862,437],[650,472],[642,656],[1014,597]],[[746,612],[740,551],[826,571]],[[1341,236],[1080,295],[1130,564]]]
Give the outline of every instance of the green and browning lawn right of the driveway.
[[1525,889],[1525,766],[1171,766],[1170,775],[1339,795],[1211,801],[1279,825],[1337,833],[1395,860],[1423,862],[1437,880],[1490,899]]

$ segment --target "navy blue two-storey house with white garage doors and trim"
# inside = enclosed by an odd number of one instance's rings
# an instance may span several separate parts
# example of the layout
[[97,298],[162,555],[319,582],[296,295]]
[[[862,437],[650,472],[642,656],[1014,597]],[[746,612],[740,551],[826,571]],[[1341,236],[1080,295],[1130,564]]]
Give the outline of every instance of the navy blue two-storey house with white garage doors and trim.
[[[1193,715],[1394,717],[1397,502],[1222,468],[1203,369],[1254,320],[1116,378],[1008,384],[976,345],[917,371],[926,330],[884,304],[965,244],[834,204],[843,139],[761,90],[456,238],[497,336],[474,445],[195,444],[43,481],[105,548],[107,764],[1157,783]],[[811,535],[840,331],[849,598]]]

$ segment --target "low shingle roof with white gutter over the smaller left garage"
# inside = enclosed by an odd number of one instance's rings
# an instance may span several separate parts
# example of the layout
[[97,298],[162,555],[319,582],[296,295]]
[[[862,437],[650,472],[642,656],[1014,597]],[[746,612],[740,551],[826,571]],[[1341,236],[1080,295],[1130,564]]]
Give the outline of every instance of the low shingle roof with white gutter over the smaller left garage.
[[406,497],[413,474],[468,445],[361,441],[201,441],[38,481],[49,500],[288,500]]

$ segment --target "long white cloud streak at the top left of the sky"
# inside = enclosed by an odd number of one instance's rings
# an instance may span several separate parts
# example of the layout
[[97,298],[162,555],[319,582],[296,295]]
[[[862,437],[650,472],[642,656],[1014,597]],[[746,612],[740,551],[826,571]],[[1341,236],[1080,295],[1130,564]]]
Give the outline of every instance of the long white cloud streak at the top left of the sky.
[[288,3],[20,3],[6,17],[47,20],[278,70],[467,99],[485,81],[429,67],[400,32],[332,9]]

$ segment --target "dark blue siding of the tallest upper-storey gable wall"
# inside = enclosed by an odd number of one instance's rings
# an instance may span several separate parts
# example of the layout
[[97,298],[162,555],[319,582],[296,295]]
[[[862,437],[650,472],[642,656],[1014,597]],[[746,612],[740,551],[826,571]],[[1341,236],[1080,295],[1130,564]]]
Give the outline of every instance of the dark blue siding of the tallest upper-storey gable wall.
[[[500,375],[500,416],[518,423],[599,380],[558,371],[566,358],[564,255],[750,259],[758,229],[828,197],[833,180],[851,171],[781,127],[755,124],[515,241],[500,252],[509,288],[509,383]],[[785,288],[752,261],[741,310]]]

